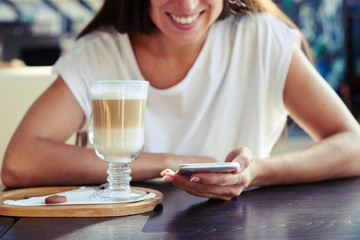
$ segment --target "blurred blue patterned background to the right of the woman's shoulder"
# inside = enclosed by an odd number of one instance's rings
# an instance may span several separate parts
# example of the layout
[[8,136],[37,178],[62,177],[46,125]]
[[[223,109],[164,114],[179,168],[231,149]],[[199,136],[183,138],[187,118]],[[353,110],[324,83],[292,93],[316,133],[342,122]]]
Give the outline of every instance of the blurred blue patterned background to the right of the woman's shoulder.
[[309,41],[315,66],[360,121],[360,0],[276,0]]

